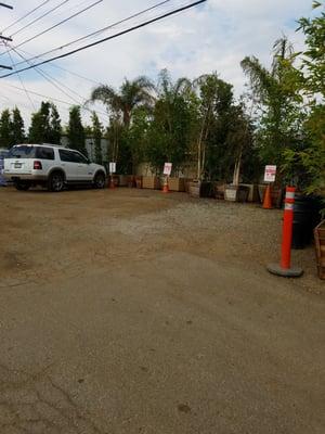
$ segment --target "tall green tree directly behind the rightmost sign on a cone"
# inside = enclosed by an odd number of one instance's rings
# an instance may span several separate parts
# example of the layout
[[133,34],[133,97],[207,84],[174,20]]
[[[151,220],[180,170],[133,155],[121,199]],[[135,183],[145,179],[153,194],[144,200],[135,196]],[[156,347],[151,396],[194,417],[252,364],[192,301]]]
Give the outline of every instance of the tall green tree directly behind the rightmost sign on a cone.
[[271,69],[255,56],[242,61],[259,111],[256,140],[264,164],[281,165],[284,150],[302,145],[304,113],[302,98],[291,86],[294,62],[292,47],[285,37],[273,46]]

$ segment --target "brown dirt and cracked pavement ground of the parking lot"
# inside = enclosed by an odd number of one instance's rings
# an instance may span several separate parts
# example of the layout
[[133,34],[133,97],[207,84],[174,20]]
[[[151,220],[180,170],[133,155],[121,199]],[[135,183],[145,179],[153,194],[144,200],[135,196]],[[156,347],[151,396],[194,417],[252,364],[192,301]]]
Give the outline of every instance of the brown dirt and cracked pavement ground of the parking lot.
[[324,283],[282,212],[0,189],[0,433],[323,434]]

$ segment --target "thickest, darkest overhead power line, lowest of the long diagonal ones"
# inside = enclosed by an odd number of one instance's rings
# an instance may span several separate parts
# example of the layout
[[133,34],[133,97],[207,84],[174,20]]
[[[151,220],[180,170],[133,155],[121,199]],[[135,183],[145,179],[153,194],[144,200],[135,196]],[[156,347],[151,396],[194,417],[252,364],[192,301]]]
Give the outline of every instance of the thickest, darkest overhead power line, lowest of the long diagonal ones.
[[162,14],[162,15],[159,15],[159,16],[157,16],[157,17],[155,17],[155,18],[145,21],[144,23],[141,23],[141,24],[138,24],[136,26],[132,26],[132,27],[130,27],[130,28],[127,28],[126,30],[119,31],[119,33],[117,33],[117,34],[115,34],[115,35],[112,35],[112,36],[108,36],[108,37],[106,37],[106,38],[100,39],[100,40],[98,40],[98,41],[95,41],[95,42],[92,42],[92,43],[89,43],[89,44],[87,44],[87,46],[77,48],[76,50],[69,51],[69,52],[67,52],[67,53],[56,55],[55,58],[51,58],[51,59],[48,59],[48,60],[46,60],[46,61],[39,62],[39,63],[35,64],[34,66],[26,66],[26,67],[24,67],[24,68],[22,68],[22,69],[18,69],[18,71],[13,72],[13,73],[9,73],[9,74],[5,74],[5,75],[2,75],[2,76],[0,76],[0,78],[10,77],[11,75],[14,75],[14,74],[17,74],[17,73],[22,73],[23,71],[31,69],[31,68],[34,68],[34,67],[36,67],[36,66],[40,66],[40,65],[47,64],[47,63],[49,63],[49,62],[56,61],[57,59],[67,58],[67,56],[69,56],[69,55],[73,55],[73,54],[78,53],[79,51],[83,51],[83,50],[89,49],[89,48],[91,48],[91,47],[95,47],[95,46],[98,46],[98,44],[100,44],[100,43],[106,42],[106,41],[108,41],[108,40],[110,40],[110,39],[118,38],[119,36],[129,34],[129,33],[134,31],[134,30],[136,30],[136,29],[139,29],[139,28],[145,27],[145,26],[147,26],[147,25],[150,25],[150,24],[152,24],[152,23],[158,22],[158,21],[164,20],[164,18],[166,18],[166,17],[168,17],[168,16],[171,16],[171,15],[174,15],[174,14],[177,14],[177,13],[183,12],[183,11],[185,11],[185,10],[187,10],[187,9],[191,9],[191,8],[194,8],[194,7],[198,5],[198,4],[205,3],[206,1],[207,1],[207,0],[198,0],[198,1],[195,1],[195,2],[193,2],[193,3],[187,4],[187,5],[185,5],[185,7],[174,9],[173,11],[167,12],[167,13],[165,13],[165,14]]

